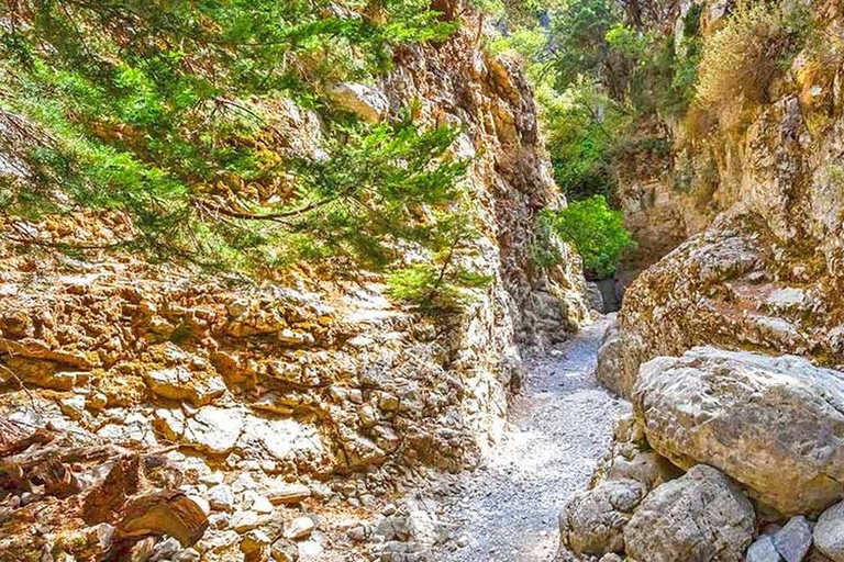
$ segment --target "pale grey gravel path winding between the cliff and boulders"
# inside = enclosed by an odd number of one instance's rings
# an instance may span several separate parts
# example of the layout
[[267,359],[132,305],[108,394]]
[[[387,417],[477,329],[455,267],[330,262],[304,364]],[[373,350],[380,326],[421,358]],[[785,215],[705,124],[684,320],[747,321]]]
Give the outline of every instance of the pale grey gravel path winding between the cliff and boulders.
[[[528,361],[510,424],[486,464],[442,498],[441,513],[460,529],[463,548],[443,562],[544,562],[554,558],[557,514],[589,482],[607,452],[614,420],[630,405],[592,375],[608,325],[603,318],[548,353]],[[454,543],[452,543],[454,548]]]

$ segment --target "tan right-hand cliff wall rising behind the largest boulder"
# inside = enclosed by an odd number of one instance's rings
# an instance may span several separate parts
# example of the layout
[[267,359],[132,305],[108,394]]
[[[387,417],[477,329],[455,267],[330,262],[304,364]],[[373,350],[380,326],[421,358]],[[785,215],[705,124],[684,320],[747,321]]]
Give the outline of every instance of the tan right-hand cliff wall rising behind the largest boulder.
[[[703,15],[713,20],[715,4]],[[812,7],[820,36],[841,35],[833,8]],[[692,237],[629,289],[625,334],[602,353],[606,366],[696,345],[844,364],[844,75],[835,44],[825,47],[808,45],[744,125],[729,115],[704,130],[676,124],[668,171],[642,183],[663,204],[638,218],[670,210],[676,236]]]

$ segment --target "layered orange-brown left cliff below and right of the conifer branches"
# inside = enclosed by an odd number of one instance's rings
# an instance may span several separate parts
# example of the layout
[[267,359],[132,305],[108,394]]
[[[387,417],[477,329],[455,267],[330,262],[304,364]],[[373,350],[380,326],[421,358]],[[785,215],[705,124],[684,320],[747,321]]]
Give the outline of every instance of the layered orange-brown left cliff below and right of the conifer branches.
[[[588,319],[579,259],[565,247],[553,270],[531,259],[536,211],[565,201],[524,78],[479,40],[468,18],[448,41],[397,52],[377,87],[335,92],[365,119],[418,100],[423,123],[463,130],[455,150],[474,158],[466,181],[482,223],[477,265],[493,280],[464,313],[420,317],[385,299],[375,276],[360,285],[303,271],[297,286],[233,286],[130,256],[22,254],[3,239],[2,416],[88,443],[177,443],[170,457],[195,476],[209,465],[248,472],[258,490],[359,474],[323,499],[366,502],[406,467],[475,463],[518,384],[519,345],[565,338]],[[280,103],[278,121],[293,149],[318,149],[315,115]],[[108,241],[126,228],[114,215],[2,226],[48,244]],[[44,502],[73,522],[60,501]],[[242,555],[236,542],[213,544],[206,560]]]

